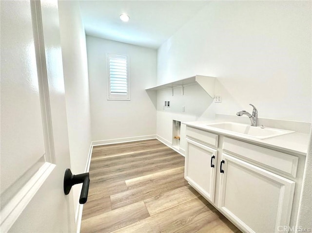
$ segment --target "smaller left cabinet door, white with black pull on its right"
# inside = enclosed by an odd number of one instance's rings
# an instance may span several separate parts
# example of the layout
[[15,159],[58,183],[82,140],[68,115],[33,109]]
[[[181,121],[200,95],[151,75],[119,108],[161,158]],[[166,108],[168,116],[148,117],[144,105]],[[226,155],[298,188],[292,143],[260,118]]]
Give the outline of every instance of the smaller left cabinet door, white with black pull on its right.
[[206,199],[215,199],[215,172],[217,151],[186,139],[184,177]]

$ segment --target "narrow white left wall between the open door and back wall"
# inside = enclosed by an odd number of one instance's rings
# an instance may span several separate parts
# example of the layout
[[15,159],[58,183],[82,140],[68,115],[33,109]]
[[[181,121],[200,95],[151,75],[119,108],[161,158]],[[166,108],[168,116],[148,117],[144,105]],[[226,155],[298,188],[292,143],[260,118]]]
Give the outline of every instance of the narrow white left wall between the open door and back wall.
[[[86,39],[78,1],[59,1],[59,22],[71,171],[79,174],[85,172],[88,160],[91,117]],[[80,190],[81,185],[73,187],[76,204]]]

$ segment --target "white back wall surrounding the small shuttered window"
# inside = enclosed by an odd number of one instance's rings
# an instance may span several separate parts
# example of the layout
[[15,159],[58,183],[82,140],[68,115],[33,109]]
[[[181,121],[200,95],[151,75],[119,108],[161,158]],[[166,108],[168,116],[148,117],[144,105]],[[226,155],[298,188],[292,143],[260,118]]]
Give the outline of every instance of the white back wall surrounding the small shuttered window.
[[[130,101],[107,100],[106,53],[130,57]],[[145,88],[156,84],[157,52],[153,49],[87,36],[92,140],[156,134],[156,107]]]

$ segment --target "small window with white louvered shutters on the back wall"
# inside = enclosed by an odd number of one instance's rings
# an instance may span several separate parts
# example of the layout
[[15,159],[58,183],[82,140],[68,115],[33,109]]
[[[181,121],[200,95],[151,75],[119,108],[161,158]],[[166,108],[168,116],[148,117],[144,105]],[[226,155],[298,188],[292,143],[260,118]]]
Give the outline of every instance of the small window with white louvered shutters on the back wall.
[[106,54],[108,99],[130,100],[129,56]]

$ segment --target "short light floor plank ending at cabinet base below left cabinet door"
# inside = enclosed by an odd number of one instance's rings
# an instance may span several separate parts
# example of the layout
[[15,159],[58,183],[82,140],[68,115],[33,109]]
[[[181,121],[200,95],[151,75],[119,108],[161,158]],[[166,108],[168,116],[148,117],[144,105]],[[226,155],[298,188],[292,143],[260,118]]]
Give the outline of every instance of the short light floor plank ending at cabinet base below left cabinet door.
[[199,193],[188,185],[145,199],[144,203],[148,212],[152,216],[199,196]]

